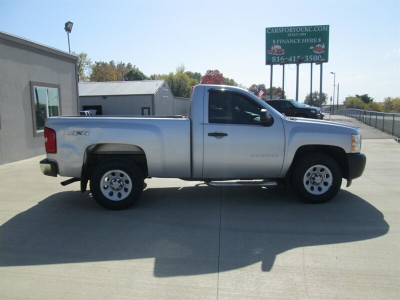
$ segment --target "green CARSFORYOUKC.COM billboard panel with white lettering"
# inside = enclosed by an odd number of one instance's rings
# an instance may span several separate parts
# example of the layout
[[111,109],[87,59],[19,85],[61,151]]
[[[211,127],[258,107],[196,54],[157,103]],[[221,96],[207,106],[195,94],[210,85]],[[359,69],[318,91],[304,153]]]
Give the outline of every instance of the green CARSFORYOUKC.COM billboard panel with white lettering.
[[329,25],[265,28],[265,64],[327,62]]

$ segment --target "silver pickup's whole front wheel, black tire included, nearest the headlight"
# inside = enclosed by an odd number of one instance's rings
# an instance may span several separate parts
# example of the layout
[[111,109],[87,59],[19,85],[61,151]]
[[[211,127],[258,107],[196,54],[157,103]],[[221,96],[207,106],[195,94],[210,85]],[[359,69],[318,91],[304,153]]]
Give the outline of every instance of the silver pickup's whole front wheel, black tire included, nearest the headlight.
[[340,189],[342,174],[337,162],[320,153],[305,154],[293,165],[291,183],[296,193],[309,203],[323,203]]

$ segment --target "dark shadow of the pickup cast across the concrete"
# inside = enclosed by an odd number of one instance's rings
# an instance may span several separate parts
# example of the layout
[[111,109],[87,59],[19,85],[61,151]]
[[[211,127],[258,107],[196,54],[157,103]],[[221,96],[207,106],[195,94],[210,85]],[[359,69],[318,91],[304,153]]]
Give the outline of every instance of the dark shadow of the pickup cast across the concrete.
[[0,226],[0,266],[155,258],[154,275],[213,273],[310,245],[385,234],[383,214],[340,190],[330,202],[299,202],[257,187],[149,188],[131,208],[108,211],[88,192],[53,194]]

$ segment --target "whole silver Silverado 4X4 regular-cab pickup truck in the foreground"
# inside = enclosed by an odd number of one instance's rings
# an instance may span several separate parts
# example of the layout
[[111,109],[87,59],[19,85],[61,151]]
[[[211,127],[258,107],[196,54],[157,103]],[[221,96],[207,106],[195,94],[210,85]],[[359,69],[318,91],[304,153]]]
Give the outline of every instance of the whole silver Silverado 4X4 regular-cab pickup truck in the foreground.
[[203,180],[214,186],[290,185],[320,203],[342,178],[359,177],[366,157],[356,127],[288,118],[248,91],[196,85],[187,115],[58,116],[44,128],[42,173],[90,181],[93,198],[108,209],[134,204],[144,179]]

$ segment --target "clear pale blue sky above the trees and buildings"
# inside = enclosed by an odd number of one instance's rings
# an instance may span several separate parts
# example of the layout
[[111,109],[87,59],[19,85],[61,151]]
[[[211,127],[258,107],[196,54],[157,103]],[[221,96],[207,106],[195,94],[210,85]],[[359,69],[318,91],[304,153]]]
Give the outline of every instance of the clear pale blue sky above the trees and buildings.
[[[66,52],[68,20],[71,51],[87,53],[92,62],[130,62],[147,76],[183,63],[201,74],[218,69],[246,87],[269,87],[266,27],[327,24],[322,91],[328,98],[333,90],[339,103],[355,94],[376,102],[400,96],[400,0],[0,0],[1,31]],[[320,66],[312,70],[312,90],[319,91]],[[301,102],[310,81],[310,64],[300,64]],[[282,86],[282,66],[273,66],[272,85]],[[287,98],[295,98],[295,64],[285,66],[284,85]]]

